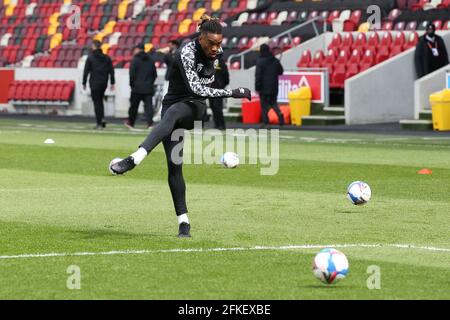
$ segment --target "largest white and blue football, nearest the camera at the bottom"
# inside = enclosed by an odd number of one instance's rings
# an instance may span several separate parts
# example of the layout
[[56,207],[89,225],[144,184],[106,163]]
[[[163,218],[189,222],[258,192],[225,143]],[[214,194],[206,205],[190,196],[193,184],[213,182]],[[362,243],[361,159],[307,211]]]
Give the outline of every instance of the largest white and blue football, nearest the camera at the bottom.
[[323,249],[314,257],[313,274],[323,283],[336,283],[348,274],[347,257],[338,250]]

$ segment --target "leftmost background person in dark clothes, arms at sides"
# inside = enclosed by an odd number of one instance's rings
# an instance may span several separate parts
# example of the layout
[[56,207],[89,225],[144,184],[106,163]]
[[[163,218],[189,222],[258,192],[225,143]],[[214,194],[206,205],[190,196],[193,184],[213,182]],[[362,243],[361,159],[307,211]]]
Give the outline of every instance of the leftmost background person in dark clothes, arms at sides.
[[105,106],[103,100],[105,98],[106,88],[108,87],[108,78],[111,77],[111,90],[114,91],[116,80],[114,78],[114,67],[111,58],[103,53],[102,43],[94,40],[92,43],[92,53],[89,55],[84,66],[83,73],[83,89],[86,90],[88,76],[89,86],[91,88],[91,97],[94,102],[95,117],[97,120],[97,130],[106,127],[105,122]]

